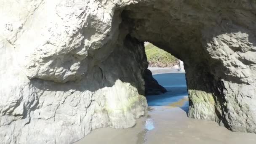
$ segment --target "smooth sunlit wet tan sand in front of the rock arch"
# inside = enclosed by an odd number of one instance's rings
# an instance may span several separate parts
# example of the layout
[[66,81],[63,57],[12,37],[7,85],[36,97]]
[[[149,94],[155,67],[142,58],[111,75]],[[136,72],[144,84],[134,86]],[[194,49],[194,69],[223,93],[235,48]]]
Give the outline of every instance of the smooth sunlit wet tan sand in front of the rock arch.
[[256,134],[235,133],[217,123],[188,118],[179,107],[149,107],[133,128],[101,128],[75,144],[256,144]]

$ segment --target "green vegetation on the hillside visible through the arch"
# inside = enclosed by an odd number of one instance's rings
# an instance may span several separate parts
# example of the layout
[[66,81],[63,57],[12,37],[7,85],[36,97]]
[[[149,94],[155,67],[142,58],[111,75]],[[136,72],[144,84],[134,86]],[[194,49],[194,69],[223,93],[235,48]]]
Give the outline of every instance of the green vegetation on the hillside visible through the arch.
[[179,65],[179,59],[151,43],[145,46],[145,51],[149,67],[173,67],[174,65]]

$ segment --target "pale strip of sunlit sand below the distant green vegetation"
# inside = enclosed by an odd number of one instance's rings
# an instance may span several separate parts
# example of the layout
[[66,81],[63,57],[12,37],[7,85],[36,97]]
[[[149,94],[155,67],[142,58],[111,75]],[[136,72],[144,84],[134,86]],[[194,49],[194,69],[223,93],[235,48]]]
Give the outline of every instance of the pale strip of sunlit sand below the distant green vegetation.
[[153,75],[165,74],[165,73],[185,73],[184,71],[179,71],[179,69],[172,67],[148,67]]

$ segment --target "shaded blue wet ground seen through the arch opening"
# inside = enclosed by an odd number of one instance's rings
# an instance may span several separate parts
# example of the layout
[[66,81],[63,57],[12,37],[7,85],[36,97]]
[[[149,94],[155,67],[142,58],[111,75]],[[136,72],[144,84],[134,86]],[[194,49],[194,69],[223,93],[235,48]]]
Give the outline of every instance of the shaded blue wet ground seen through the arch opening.
[[160,85],[163,85],[168,92],[162,95],[147,96],[147,103],[149,107],[180,107],[185,112],[188,112],[189,102],[185,74],[168,73],[153,75],[153,77]]

